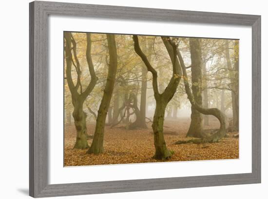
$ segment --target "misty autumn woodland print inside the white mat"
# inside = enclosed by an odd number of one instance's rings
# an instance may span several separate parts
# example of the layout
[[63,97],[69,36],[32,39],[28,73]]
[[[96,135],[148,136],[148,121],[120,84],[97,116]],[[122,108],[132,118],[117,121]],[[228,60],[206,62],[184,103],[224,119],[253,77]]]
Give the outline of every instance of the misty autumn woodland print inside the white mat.
[[239,158],[239,40],[63,40],[64,166]]

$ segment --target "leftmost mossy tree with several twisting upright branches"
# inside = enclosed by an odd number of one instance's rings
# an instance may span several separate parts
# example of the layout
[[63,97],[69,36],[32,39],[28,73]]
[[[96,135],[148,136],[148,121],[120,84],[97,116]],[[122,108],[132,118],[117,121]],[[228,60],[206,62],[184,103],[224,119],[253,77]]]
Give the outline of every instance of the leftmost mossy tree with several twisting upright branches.
[[[77,130],[77,138],[74,148],[85,149],[88,148],[87,143],[87,127],[86,127],[86,113],[83,111],[83,104],[87,96],[94,89],[97,77],[94,70],[94,65],[91,59],[91,35],[87,34],[87,47],[86,47],[86,59],[88,63],[89,72],[91,75],[91,80],[88,86],[83,91],[82,84],[80,81],[80,64],[76,54],[76,41],[72,37],[70,32],[64,32],[64,38],[66,40],[65,44],[65,59],[66,59],[66,79],[68,87],[72,95],[72,103],[74,105],[73,117],[75,120],[75,126]],[[73,45],[73,46],[72,46]],[[73,60],[72,50],[74,54],[75,61]],[[76,64],[75,64],[76,62]],[[72,64],[77,71],[77,84],[74,85],[72,79]],[[79,92],[78,92],[79,90]]]

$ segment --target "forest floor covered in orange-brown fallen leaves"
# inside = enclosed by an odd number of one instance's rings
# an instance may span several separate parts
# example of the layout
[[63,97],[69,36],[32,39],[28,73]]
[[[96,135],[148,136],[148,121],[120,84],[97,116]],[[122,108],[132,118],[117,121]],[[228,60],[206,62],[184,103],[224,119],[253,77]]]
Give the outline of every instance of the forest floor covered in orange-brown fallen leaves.
[[[238,159],[239,138],[238,132],[228,133],[226,138],[216,143],[202,144],[175,144],[178,140],[188,140],[186,133],[190,125],[190,119],[178,119],[176,121],[165,120],[164,136],[168,149],[174,154],[166,161],[189,161],[209,159]],[[88,134],[93,135],[95,124],[88,125]],[[218,122],[211,121],[205,129],[218,128]],[[153,130],[151,123],[148,129],[126,130],[123,125],[105,127],[104,153],[100,155],[86,154],[87,149],[74,149],[76,141],[75,126],[65,126],[64,134],[64,166],[82,166],[98,164],[127,164],[157,162],[153,159]],[[92,139],[88,140],[91,145]]]

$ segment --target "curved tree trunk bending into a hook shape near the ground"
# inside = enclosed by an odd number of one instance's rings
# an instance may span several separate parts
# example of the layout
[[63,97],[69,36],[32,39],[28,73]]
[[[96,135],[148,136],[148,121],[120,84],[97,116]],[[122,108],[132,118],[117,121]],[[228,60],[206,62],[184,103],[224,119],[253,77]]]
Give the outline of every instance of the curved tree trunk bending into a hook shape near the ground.
[[[194,97],[191,93],[191,88],[188,81],[188,75],[186,72],[186,66],[184,64],[184,60],[180,54],[180,51],[177,49],[177,56],[180,61],[180,65],[183,72],[183,80],[184,87],[187,94],[188,99],[191,102],[191,105],[200,113],[204,115],[212,115],[215,116],[220,122],[219,130],[211,136],[202,135],[202,139],[199,142],[217,142],[219,139],[223,138],[226,135],[226,121],[225,115],[217,108],[203,108],[198,103],[195,102]],[[191,141],[191,140],[190,140]]]

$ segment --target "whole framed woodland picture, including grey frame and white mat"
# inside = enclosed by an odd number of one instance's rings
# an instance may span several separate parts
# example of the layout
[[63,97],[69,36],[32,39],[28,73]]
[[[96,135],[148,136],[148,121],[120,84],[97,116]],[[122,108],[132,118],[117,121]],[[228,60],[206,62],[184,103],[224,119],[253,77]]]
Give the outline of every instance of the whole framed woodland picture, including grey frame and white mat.
[[30,3],[30,196],[261,182],[261,16]]

